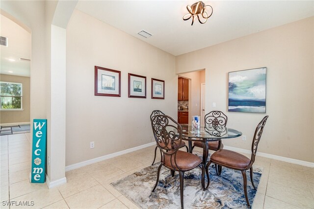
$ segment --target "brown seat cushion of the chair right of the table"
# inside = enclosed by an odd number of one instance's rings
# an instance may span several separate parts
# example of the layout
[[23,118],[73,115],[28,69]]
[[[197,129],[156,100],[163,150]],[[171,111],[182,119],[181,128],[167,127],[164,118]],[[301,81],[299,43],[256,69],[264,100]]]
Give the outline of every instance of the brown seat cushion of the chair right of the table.
[[225,167],[243,170],[250,164],[250,159],[231,150],[218,150],[210,156],[210,160]]

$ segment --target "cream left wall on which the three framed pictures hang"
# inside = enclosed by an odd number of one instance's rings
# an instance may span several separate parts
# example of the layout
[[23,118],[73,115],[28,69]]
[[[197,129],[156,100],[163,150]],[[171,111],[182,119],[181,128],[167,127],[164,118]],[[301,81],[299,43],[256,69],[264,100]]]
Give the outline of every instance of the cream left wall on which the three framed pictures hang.
[[[154,109],[177,118],[173,55],[78,10],[66,45],[66,165],[153,142]],[[95,65],[121,71],[121,97],[94,96]],[[128,73],[147,77],[146,99],[128,98]],[[151,99],[151,78],[165,80],[164,100]]]

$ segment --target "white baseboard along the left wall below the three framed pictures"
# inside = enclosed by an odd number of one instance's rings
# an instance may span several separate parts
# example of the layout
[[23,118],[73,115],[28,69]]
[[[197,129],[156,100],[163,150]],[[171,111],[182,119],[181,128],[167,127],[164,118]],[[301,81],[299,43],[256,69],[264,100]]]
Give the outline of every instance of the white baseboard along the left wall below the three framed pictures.
[[127,149],[127,150],[123,150],[123,151],[120,151],[120,152],[112,153],[112,154],[105,155],[105,156],[102,156],[102,157],[96,157],[96,158],[89,159],[89,160],[86,160],[86,161],[78,162],[78,163],[75,163],[75,164],[72,164],[72,165],[65,166],[65,171],[71,171],[71,170],[74,170],[74,169],[77,169],[77,168],[80,168],[80,167],[83,167],[83,166],[86,166],[86,165],[90,165],[90,164],[93,164],[93,163],[96,163],[96,162],[100,162],[100,161],[103,161],[105,159],[109,159],[109,158],[112,158],[112,157],[121,156],[121,155],[124,155],[124,154],[127,154],[127,153],[131,153],[131,152],[134,152],[134,151],[137,151],[137,150],[140,150],[140,149],[144,149],[146,147],[153,146],[153,145],[156,145],[156,142],[151,142],[151,143],[148,143],[148,144],[144,144],[144,145],[141,145],[141,146],[138,146],[138,147],[133,147],[133,148],[130,148],[130,149]]

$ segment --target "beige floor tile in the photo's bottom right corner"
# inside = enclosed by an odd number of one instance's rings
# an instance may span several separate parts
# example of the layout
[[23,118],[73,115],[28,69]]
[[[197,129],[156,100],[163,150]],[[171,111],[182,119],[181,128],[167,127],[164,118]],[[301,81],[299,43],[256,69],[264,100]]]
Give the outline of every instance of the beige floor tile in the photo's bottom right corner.
[[309,190],[290,188],[277,183],[268,182],[266,196],[301,208],[314,206],[313,195]]

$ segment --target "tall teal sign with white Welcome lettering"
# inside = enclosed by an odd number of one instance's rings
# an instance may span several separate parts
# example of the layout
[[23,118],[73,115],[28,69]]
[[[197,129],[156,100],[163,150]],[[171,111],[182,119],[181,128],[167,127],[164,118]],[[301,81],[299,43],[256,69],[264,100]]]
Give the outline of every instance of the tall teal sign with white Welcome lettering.
[[45,183],[47,120],[34,119],[31,183]]

